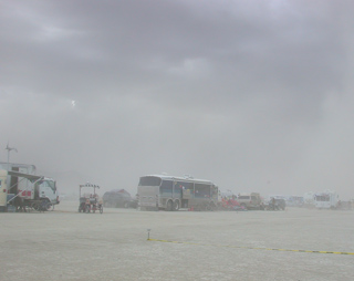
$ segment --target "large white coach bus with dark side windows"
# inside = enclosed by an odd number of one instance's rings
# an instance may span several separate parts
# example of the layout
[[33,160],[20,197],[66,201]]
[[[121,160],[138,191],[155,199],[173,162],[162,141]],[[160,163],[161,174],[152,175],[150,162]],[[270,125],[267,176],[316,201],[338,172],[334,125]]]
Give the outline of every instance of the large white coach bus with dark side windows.
[[140,210],[215,210],[218,204],[218,187],[210,180],[191,177],[144,176],[137,195]]

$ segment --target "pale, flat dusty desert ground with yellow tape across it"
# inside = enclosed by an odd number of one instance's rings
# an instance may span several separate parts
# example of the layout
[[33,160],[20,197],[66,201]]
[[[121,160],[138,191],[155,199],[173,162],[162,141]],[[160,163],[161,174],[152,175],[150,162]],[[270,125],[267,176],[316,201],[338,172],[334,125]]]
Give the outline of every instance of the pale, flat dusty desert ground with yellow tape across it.
[[[0,280],[354,280],[354,211],[0,214]],[[179,241],[147,241],[150,238]]]

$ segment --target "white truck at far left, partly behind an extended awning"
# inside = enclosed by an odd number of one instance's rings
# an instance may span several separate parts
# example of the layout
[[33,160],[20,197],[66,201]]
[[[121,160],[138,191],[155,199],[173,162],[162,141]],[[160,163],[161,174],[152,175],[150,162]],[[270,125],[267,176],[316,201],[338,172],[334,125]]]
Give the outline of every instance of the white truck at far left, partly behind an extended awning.
[[0,163],[0,169],[7,171],[2,173],[2,180],[7,186],[6,191],[2,188],[2,192],[14,195],[10,200],[18,209],[23,209],[23,207],[35,209],[44,204],[49,209],[59,204],[56,181],[44,176],[37,176],[34,165]]

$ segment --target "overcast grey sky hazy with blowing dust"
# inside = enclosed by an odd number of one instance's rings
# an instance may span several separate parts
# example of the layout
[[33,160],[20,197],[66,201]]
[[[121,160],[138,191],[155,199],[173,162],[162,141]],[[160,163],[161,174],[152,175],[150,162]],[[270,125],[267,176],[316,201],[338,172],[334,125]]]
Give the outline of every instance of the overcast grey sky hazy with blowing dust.
[[354,198],[353,1],[0,0],[0,157]]

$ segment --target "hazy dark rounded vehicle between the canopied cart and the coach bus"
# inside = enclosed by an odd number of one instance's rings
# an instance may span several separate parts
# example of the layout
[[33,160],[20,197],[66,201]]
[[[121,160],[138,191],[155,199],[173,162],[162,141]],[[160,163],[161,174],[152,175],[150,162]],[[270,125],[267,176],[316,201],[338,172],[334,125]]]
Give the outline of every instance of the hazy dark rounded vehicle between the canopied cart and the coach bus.
[[136,208],[137,201],[125,189],[113,189],[103,195],[103,205],[107,208]]

